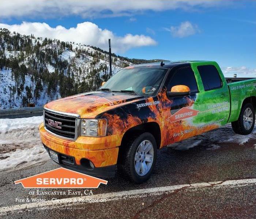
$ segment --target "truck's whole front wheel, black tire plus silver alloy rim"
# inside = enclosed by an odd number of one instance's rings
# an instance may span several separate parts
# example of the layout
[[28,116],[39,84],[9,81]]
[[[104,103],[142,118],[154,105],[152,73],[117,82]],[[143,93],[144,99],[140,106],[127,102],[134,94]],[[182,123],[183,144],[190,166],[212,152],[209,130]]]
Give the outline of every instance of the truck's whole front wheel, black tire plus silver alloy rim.
[[122,146],[119,170],[135,183],[144,183],[150,178],[157,158],[157,143],[149,132],[132,138]]

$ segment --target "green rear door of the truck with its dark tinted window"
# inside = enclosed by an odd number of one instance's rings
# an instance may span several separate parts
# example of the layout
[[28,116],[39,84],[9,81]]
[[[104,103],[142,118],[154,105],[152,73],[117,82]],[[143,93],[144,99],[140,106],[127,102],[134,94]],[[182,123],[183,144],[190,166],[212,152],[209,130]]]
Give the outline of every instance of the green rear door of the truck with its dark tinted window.
[[204,87],[207,129],[224,125],[229,119],[229,88],[223,74],[219,73],[221,69],[219,69],[219,66],[217,68],[214,65],[197,66]]

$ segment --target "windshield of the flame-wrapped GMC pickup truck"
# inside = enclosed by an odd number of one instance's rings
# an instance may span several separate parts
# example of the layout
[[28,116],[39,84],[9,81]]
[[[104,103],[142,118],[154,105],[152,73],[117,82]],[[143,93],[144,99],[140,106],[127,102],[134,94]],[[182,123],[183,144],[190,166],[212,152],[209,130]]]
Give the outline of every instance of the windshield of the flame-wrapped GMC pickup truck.
[[114,74],[99,90],[153,95],[161,85],[168,69],[131,68]]

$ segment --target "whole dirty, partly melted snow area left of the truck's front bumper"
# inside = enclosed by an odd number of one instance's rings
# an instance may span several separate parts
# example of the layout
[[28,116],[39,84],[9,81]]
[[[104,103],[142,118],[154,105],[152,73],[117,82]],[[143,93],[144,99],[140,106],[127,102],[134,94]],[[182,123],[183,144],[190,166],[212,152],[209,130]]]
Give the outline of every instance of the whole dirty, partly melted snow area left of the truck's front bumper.
[[38,126],[42,116],[0,119],[0,170],[25,168],[49,160]]

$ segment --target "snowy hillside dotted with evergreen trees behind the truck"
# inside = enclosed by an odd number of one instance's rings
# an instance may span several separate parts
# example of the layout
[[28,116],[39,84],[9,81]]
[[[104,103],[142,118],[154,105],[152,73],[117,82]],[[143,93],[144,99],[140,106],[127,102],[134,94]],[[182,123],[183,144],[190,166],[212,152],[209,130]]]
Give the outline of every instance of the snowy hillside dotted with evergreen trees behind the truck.
[[[112,73],[160,59],[112,54]],[[97,89],[110,78],[109,55],[97,47],[11,33],[0,28],[0,109],[41,106]]]

